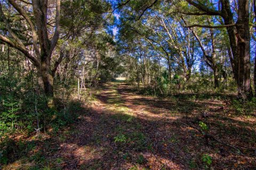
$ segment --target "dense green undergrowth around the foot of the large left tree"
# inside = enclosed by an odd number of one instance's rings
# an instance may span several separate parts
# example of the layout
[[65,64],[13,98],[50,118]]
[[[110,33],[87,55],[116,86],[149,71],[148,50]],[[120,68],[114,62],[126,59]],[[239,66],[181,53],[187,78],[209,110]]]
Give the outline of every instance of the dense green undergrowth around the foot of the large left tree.
[[[47,107],[47,98],[38,91],[34,80],[34,72],[21,76],[17,72],[3,73],[0,76],[0,164],[8,164],[17,157],[26,156],[36,146],[34,141],[15,142],[9,137],[15,133],[39,134],[52,128],[53,133],[73,123],[81,103],[55,98],[59,103],[55,107]],[[39,128],[39,129],[38,129]],[[38,138],[40,136],[38,135]],[[31,159],[38,162],[44,158],[35,155]]]

